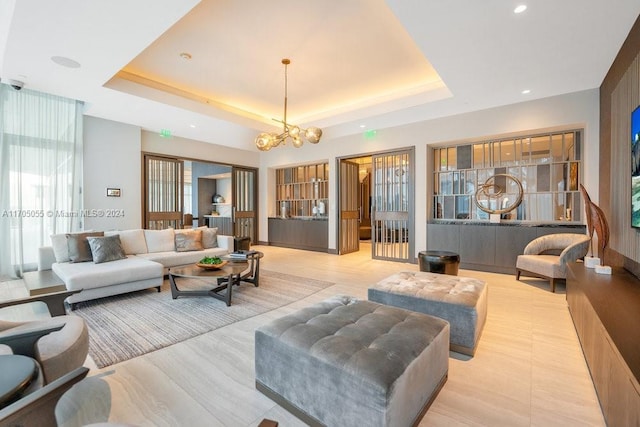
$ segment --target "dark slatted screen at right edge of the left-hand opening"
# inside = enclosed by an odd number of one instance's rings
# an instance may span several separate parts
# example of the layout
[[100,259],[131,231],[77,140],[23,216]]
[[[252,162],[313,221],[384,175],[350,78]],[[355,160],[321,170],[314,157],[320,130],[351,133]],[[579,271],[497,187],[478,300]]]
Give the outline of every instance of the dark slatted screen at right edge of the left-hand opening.
[[233,210],[234,234],[238,237],[250,237],[251,243],[257,242],[256,224],[256,170],[233,168]]

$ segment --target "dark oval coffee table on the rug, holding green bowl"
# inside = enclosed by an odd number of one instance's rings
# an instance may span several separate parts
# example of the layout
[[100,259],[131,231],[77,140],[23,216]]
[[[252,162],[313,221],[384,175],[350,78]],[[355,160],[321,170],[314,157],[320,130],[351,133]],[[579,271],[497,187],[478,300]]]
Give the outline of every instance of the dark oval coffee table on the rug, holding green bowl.
[[[231,295],[233,285],[239,285],[241,275],[250,267],[249,263],[230,262],[219,270],[207,270],[197,265],[187,265],[182,267],[172,267],[169,269],[169,284],[171,285],[171,296],[173,299],[182,296],[209,296],[220,301],[224,301],[227,307],[231,305]],[[176,279],[199,279],[203,281],[211,281],[213,288],[211,289],[190,289],[184,290],[178,288]],[[254,286],[258,286],[254,283]]]

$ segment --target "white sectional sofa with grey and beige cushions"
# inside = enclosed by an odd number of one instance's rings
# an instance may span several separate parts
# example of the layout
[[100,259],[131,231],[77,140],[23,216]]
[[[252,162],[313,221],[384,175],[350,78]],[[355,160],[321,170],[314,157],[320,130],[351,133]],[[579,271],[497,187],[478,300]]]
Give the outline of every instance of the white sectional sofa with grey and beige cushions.
[[[93,252],[97,243],[103,241],[101,237],[113,242],[110,236],[114,235],[118,236],[122,249],[119,256],[115,256],[119,259],[104,261],[94,252],[90,260],[83,261],[82,256],[78,257],[77,248],[72,249],[73,244],[83,244],[84,236],[85,246]],[[98,239],[92,240],[92,237]],[[95,247],[89,246],[87,239],[95,243]],[[53,235],[51,241],[52,246],[40,248],[38,268],[53,270],[68,290],[82,290],[67,298],[72,309],[81,301],[153,287],[160,291],[170,267],[196,263],[205,256],[225,255],[233,251],[234,243],[232,236],[217,235],[217,229],[206,227],[67,233]]]

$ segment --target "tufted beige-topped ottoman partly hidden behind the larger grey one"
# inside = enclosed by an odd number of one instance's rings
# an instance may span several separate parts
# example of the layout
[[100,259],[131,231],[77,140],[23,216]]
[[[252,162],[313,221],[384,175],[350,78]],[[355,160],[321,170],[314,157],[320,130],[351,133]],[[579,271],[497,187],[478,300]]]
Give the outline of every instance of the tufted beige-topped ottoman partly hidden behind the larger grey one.
[[448,321],[451,350],[470,356],[487,318],[487,286],[470,277],[405,271],[369,288],[369,300]]

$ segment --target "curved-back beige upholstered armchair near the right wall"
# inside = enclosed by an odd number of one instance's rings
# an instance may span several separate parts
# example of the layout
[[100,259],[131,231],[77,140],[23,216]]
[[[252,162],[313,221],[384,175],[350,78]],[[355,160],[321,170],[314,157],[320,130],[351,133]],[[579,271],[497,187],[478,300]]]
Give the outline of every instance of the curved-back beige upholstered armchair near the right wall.
[[567,278],[567,263],[583,258],[589,250],[589,236],[585,234],[548,234],[532,240],[524,248],[524,254],[516,261],[516,280],[520,275],[548,279],[551,292],[556,291],[556,281]]

